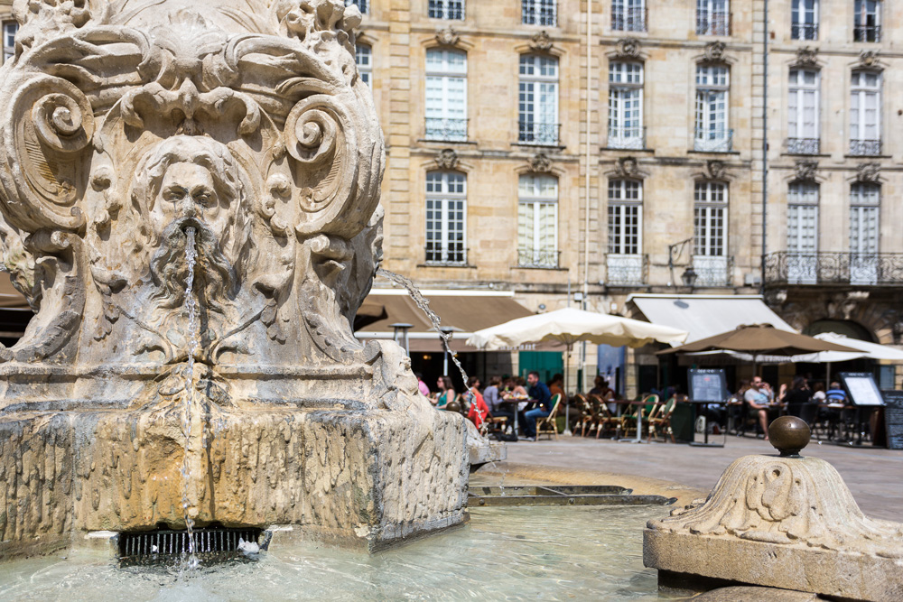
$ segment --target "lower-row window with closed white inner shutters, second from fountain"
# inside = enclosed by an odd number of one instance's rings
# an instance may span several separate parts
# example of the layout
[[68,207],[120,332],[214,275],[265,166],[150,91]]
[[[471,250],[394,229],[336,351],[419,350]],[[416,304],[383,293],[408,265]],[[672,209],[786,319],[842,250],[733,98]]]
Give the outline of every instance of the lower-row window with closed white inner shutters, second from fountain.
[[521,176],[517,201],[517,263],[558,267],[558,179]]

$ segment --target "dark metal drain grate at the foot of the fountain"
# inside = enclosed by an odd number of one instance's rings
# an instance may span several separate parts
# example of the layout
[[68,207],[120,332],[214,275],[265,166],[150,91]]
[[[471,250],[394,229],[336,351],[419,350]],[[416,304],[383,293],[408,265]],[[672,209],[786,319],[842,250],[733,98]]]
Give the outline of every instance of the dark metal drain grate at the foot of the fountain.
[[[262,531],[254,527],[194,529],[195,553],[223,560],[238,553],[238,540],[258,543]],[[188,553],[188,532],[158,529],[119,533],[119,560],[124,564],[144,564],[179,558]]]

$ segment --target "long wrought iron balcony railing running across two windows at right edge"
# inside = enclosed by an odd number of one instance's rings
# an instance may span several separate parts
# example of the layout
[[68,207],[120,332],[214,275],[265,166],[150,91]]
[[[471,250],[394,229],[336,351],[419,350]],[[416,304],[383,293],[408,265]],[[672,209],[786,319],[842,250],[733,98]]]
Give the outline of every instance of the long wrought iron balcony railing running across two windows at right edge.
[[903,253],[795,253],[765,258],[767,284],[903,286]]

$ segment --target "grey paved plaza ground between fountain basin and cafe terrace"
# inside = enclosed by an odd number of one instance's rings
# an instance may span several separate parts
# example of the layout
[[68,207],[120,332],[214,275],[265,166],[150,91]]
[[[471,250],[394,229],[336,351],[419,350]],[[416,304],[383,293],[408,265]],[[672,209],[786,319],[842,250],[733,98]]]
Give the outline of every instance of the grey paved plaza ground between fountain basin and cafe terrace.
[[[507,460],[496,467],[480,468],[474,483],[491,484],[501,472],[511,485],[519,481],[573,481],[575,485],[630,486],[636,493],[664,489],[663,495],[678,497],[678,504],[687,504],[694,497],[707,495],[731,461],[759,453],[777,454],[777,450],[751,437],[728,436],[723,448],[698,448],[560,435],[557,441],[544,437],[535,442],[508,443]],[[862,512],[903,522],[903,450],[819,445],[814,441],[802,453],[830,462],[850,487]]]

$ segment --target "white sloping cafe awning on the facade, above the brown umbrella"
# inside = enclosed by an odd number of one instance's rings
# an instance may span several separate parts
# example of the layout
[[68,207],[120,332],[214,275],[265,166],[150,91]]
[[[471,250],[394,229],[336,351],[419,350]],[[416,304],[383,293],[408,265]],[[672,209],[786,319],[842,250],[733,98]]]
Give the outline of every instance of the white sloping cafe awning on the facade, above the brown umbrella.
[[741,324],[771,324],[796,332],[760,295],[634,294],[627,299],[653,324],[686,330],[686,343],[736,329]]

